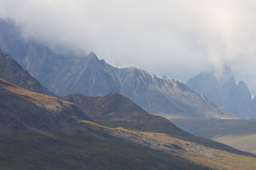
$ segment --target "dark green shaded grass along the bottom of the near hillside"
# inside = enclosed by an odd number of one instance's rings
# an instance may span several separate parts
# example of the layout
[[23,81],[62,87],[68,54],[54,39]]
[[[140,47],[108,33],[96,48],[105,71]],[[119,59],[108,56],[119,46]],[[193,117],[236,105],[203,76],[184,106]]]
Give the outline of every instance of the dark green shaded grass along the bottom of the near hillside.
[[19,132],[0,137],[0,169],[208,169],[110,136]]

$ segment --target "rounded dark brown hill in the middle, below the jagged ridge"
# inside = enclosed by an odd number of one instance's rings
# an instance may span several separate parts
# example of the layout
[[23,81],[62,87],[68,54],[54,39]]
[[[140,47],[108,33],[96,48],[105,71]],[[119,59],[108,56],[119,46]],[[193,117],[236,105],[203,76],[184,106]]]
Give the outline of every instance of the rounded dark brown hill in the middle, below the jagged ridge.
[[145,110],[120,94],[90,97],[72,94],[64,100],[76,104],[93,122],[108,127],[124,127],[139,131],[164,132],[172,136],[187,136],[168,119],[148,114]]

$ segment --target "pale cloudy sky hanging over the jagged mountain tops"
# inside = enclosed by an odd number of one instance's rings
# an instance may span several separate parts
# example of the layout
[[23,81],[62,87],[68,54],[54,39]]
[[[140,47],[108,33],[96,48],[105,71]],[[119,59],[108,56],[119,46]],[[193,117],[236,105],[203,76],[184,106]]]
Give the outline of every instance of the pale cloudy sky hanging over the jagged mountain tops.
[[186,82],[231,67],[256,94],[256,1],[0,0],[22,36]]

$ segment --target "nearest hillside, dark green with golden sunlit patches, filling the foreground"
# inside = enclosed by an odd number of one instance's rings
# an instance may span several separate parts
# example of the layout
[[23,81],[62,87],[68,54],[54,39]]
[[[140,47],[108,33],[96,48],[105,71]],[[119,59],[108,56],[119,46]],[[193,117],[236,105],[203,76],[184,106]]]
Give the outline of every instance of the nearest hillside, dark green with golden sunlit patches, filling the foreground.
[[72,103],[3,79],[0,92],[0,169],[256,167],[255,155],[216,150],[164,133],[95,124]]

